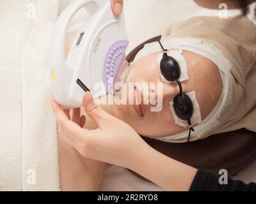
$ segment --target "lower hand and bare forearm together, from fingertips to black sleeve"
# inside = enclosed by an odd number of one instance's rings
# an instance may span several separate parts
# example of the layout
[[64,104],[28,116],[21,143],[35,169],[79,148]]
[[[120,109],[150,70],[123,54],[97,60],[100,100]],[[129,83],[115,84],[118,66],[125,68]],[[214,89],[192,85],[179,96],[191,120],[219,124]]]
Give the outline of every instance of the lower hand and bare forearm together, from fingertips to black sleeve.
[[[195,168],[149,147],[129,125],[95,105],[90,92],[85,94],[83,103],[86,113],[99,128],[81,128],[79,123],[70,120],[65,111],[52,101],[61,137],[82,156],[130,168],[167,191],[188,191],[195,177]],[[83,123],[84,116],[80,118],[77,114],[76,118]]]

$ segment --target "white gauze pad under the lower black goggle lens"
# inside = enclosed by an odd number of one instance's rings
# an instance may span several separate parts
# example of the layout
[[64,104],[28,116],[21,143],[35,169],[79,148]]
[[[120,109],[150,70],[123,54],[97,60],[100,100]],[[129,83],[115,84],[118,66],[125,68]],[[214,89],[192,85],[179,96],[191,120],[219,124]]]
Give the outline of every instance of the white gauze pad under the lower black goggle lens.
[[[192,103],[193,103],[193,115],[191,117],[191,125],[195,125],[195,124],[200,124],[202,122],[202,116],[201,116],[201,112],[200,112],[200,107],[199,107],[199,104],[198,104],[198,101],[196,100],[196,92],[193,91],[193,92],[189,92],[189,93],[186,93],[189,98],[191,99]],[[174,111],[174,108],[173,108],[173,99],[172,101],[170,101],[170,109],[171,109],[171,112],[172,112],[172,115],[173,115],[173,118],[175,120],[175,124],[179,125],[179,126],[183,126],[183,127],[188,127],[188,121],[187,120],[182,120],[180,119],[175,111]]]

